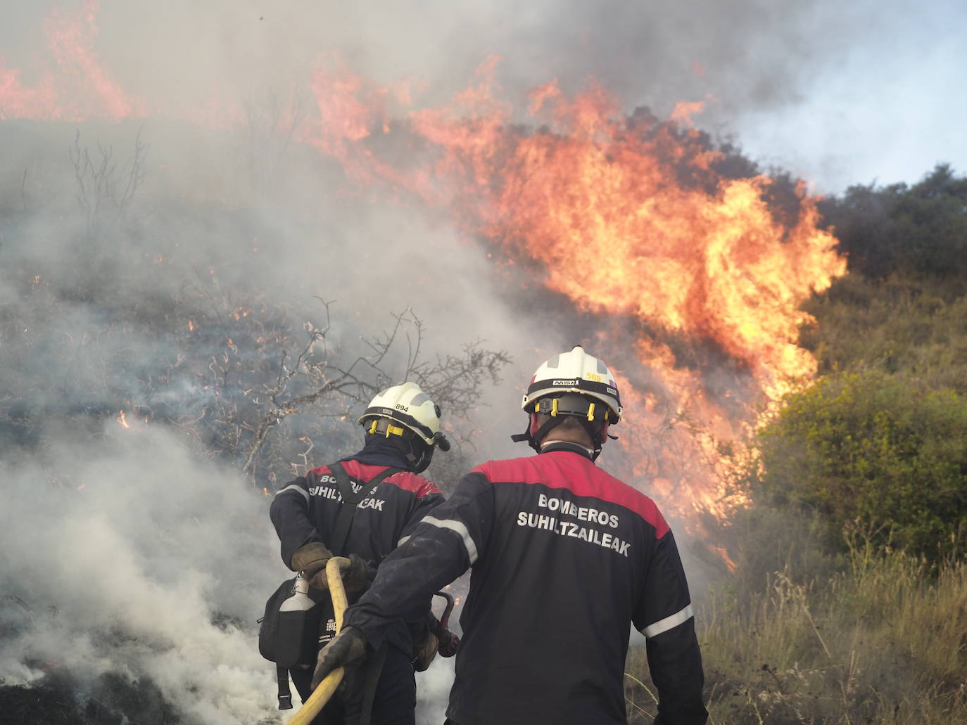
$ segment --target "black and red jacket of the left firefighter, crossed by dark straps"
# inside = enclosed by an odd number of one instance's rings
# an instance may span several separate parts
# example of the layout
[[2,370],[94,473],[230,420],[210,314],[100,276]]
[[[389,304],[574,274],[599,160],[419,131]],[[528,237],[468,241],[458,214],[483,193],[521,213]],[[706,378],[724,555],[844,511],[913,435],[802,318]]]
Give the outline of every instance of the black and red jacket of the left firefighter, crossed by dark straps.
[[[410,467],[396,447],[376,437],[370,439],[366,448],[340,462],[354,484],[365,484],[391,466]],[[442,501],[443,494],[433,483],[410,471],[402,470],[384,478],[357,506],[345,546],[336,553],[357,554],[370,565],[379,565],[401,540],[409,537],[420,519]],[[341,508],[336,477],[328,466],[320,466],[281,486],[269,515],[281,543],[282,562],[289,566],[292,555],[313,541],[330,547]],[[397,622],[393,636],[389,637],[397,647],[410,648],[408,629],[423,623],[431,594],[424,598],[423,612],[409,619],[411,627],[398,626]]]

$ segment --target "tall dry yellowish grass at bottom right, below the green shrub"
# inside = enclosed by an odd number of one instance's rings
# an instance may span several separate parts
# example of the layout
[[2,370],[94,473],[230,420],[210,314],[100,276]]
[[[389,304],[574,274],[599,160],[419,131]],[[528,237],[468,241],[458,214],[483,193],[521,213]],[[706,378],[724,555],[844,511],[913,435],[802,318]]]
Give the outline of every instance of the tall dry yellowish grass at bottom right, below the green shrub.
[[[832,575],[760,581],[699,608],[710,723],[967,723],[967,562],[861,544]],[[626,670],[629,722],[652,722],[643,649]]]

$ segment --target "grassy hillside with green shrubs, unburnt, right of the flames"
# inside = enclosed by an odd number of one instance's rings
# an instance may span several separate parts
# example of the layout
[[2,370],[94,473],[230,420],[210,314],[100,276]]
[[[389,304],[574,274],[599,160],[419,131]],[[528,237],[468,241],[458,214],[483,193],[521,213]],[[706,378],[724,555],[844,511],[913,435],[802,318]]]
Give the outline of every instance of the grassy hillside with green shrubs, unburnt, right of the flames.
[[[710,722],[967,722],[967,179],[823,211],[850,274],[808,305],[819,380],[756,442],[736,570],[693,592]],[[626,669],[652,722],[643,649]]]

